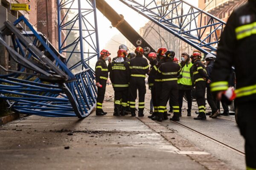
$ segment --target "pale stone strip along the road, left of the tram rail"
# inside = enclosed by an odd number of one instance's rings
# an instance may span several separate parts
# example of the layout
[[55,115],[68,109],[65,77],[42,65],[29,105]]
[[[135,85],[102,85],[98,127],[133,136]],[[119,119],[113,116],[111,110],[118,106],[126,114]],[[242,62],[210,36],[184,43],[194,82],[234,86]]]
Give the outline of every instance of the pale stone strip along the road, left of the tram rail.
[[[211,154],[204,152],[204,150],[196,147],[190,143],[187,139],[184,139],[177,133],[168,128],[154,122],[146,117],[137,117],[146,126],[154,130],[163,136],[168,142],[173,146],[177,147],[181,154],[189,156],[192,160],[198,162],[207,170],[231,170],[224,162],[221,162],[217,158],[213,157]],[[197,154],[198,153],[198,154]],[[203,153],[203,154],[201,154]],[[179,153],[178,153],[179,154]]]

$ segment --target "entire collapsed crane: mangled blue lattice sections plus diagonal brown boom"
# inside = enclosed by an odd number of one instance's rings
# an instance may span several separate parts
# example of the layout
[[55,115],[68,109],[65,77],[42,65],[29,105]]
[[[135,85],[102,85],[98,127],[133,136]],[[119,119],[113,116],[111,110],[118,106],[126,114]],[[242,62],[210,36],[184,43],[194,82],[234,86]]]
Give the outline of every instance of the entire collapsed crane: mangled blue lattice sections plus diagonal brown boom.
[[[161,0],[160,5],[157,0],[120,1],[202,53],[216,51],[225,26],[217,17],[183,0]],[[96,105],[95,74],[87,64],[99,58],[96,7],[134,46],[142,46],[146,57],[154,48],[104,0],[83,1],[86,8],[81,7],[81,0],[57,3],[58,50],[23,16],[0,28],[0,44],[18,66],[17,70],[0,66],[7,73],[0,75],[0,98],[17,113],[82,118]],[[202,26],[204,16],[206,26]],[[78,36],[70,38],[72,32]],[[13,47],[7,45],[6,36],[11,36]],[[91,51],[86,51],[89,47]]]

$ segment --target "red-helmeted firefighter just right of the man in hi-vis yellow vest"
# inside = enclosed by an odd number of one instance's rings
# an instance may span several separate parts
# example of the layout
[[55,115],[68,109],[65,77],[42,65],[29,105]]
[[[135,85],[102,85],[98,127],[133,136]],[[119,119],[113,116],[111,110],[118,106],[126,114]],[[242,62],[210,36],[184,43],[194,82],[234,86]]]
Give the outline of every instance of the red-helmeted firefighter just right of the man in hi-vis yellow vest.
[[207,75],[206,68],[201,62],[201,54],[199,52],[194,52],[191,56],[193,65],[193,83],[195,84],[195,96],[196,102],[198,104],[198,117],[195,120],[205,120],[205,89],[206,82],[209,83],[209,77]]

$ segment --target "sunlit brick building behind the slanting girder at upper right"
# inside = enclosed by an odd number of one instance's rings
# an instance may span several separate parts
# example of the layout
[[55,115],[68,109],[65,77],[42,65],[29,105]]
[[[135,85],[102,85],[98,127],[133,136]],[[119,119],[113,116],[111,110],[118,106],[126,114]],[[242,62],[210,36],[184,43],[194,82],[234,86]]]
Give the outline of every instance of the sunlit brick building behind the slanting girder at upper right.
[[[223,20],[224,22],[227,22],[228,17],[230,14],[233,12],[234,9],[237,7],[243,5],[246,3],[247,0],[198,0],[198,8],[204,9],[204,11],[209,12],[210,14],[218,17],[219,19]],[[209,19],[207,16],[203,16],[202,18],[202,25],[205,26],[207,25],[207,21]],[[198,19],[198,22],[200,22],[200,19]],[[198,23],[199,25],[199,23]],[[218,38],[220,37],[221,34],[221,28],[217,30]],[[207,29],[202,37],[207,37],[209,35],[209,29]],[[212,34],[211,37],[212,40],[215,40],[216,38]]]

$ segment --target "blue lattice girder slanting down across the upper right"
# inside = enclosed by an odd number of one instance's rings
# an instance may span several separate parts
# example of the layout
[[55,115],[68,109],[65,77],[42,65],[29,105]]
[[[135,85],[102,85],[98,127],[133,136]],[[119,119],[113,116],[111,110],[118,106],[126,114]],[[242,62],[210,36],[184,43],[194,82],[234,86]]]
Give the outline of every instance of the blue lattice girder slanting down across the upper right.
[[[215,55],[226,23],[184,0],[119,0],[158,26],[198,49]],[[160,3],[159,3],[160,2]],[[202,18],[205,24],[202,24]],[[217,32],[220,33],[217,33]],[[204,37],[204,38],[203,38]]]

